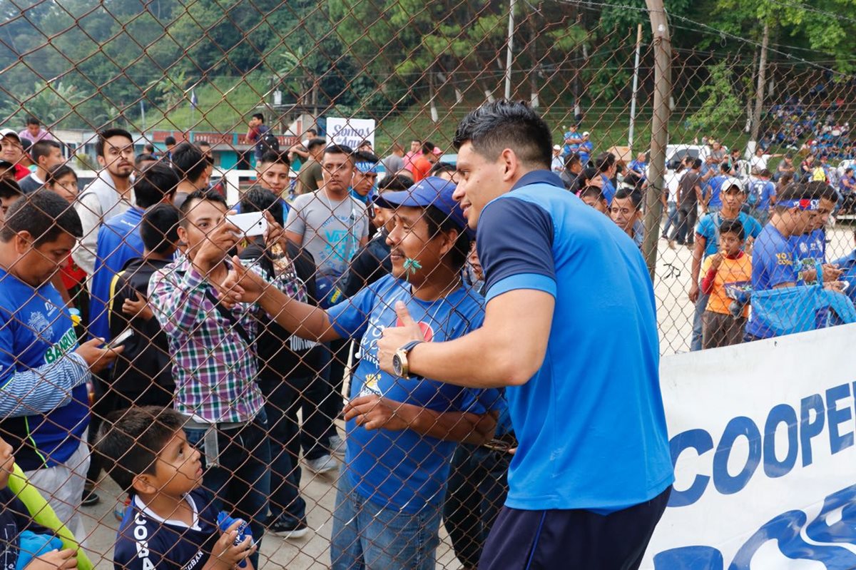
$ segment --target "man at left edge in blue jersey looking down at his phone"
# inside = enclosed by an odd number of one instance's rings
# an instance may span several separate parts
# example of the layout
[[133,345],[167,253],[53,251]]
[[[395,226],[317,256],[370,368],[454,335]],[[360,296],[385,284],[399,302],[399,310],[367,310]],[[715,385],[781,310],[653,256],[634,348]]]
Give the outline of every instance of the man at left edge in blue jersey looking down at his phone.
[[78,537],[89,465],[86,382],[118,352],[80,346],[51,277],[83,235],[59,194],[38,190],[9,207],[0,229],[0,433],[18,465]]

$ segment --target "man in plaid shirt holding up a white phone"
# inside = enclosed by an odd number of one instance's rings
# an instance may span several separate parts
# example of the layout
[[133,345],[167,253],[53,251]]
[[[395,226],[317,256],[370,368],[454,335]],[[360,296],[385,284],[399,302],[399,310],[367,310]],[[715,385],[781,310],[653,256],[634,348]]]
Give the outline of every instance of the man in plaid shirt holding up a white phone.
[[[187,440],[204,452],[203,484],[217,510],[223,502],[235,505],[235,516],[250,521],[259,539],[270,494],[267,417],[254,350],[263,312],[214,287],[229,274],[227,253],[240,238],[226,221],[228,210],[209,190],[187,197],[178,229],[186,255],[152,275],[149,290],[173,355],[175,410],[187,416]],[[271,228],[276,231],[265,236],[268,242],[284,239],[278,224]],[[294,283],[279,281],[277,288],[294,294]]]

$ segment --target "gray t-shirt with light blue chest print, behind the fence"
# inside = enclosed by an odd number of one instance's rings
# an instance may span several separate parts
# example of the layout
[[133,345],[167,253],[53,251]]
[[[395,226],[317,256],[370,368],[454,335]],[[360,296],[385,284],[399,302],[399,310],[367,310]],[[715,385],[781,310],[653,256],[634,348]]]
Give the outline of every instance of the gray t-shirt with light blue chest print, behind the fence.
[[294,199],[285,229],[303,236],[303,247],[312,254],[318,271],[340,276],[369,235],[366,205],[350,196],[330,199],[322,189]]

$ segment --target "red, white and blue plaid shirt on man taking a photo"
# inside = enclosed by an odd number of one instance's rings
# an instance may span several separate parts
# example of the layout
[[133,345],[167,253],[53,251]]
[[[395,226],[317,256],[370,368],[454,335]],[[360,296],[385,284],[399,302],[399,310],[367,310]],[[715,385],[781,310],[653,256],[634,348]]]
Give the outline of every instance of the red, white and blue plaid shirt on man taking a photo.
[[[288,274],[274,285],[294,296],[294,283],[286,279]],[[153,312],[169,337],[175,410],[208,422],[251,421],[265,403],[256,384],[258,361],[253,347],[217,311],[213,286],[184,257],[155,272],[149,291]],[[232,315],[254,341],[262,309],[239,303]]]

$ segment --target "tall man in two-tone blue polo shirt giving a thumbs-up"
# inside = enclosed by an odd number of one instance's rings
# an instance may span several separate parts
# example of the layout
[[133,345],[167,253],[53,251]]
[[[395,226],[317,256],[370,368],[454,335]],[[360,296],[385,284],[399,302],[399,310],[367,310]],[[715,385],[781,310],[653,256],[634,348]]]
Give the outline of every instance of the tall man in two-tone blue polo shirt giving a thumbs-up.
[[455,198],[478,225],[484,324],[415,345],[413,324],[388,328],[378,357],[507,387],[520,445],[480,570],[636,568],[674,480],[653,288],[633,240],[550,173],[550,145],[526,104],[463,119]]

